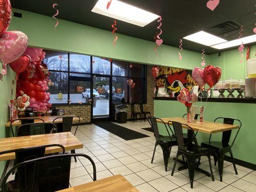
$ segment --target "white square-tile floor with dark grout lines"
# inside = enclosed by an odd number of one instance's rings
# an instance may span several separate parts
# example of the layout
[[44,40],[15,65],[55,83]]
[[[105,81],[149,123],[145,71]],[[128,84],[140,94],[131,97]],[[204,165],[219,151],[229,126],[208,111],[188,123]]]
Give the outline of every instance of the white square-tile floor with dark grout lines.
[[[125,141],[96,125],[80,126],[76,137],[84,144],[76,153],[91,156],[96,163],[97,180],[121,174],[139,192],[256,192],[256,172],[237,166],[235,175],[230,162],[224,163],[223,182],[219,181],[218,167],[213,164],[215,181],[200,172],[195,172],[194,189],[190,188],[188,170],[177,171],[171,176],[173,157],[177,147],[172,147],[168,171],[164,170],[162,150],[157,148],[153,164],[155,138],[152,132],[142,128],[150,127],[147,122],[120,124],[150,137]],[[74,130],[73,130],[74,131]],[[200,168],[209,170],[207,158],[201,158]],[[179,167],[179,163],[175,169]],[[71,165],[70,185],[75,186],[92,181],[92,166],[89,160],[79,158]]]

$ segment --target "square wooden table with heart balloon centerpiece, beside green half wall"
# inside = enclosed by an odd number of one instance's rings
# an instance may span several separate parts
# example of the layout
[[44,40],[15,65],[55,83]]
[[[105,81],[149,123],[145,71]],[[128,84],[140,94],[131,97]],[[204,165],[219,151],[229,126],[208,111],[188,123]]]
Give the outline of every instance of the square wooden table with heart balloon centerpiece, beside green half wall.
[[[161,121],[162,120],[162,121]],[[182,117],[171,117],[171,118],[162,118],[161,120],[157,119],[158,123],[165,123],[166,125],[168,124],[168,121],[175,121],[179,123],[186,124],[190,126],[194,131],[196,132],[205,132],[208,134],[212,133],[217,133],[217,132],[225,132],[229,131],[232,129],[238,129],[238,125],[230,125],[230,124],[224,124],[224,123],[218,123],[218,122],[211,122],[211,121],[204,121],[204,122],[199,122],[198,120],[193,120],[191,123],[188,123],[186,119]],[[171,124],[171,122],[170,122]],[[191,129],[189,129],[187,126],[183,125],[183,128],[187,129],[187,145],[192,146],[192,137],[193,137],[193,132]],[[187,165],[186,162],[182,160],[178,160],[180,163],[183,164],[183,166],[180,166],[178,170],[186,169]],[[198,162],[200,163],[200,162]],[[210,177],[210,173],[201,169],[201,168],[196,168],[196,170],[201,171],[202,173],[205,173],[208,177]]]

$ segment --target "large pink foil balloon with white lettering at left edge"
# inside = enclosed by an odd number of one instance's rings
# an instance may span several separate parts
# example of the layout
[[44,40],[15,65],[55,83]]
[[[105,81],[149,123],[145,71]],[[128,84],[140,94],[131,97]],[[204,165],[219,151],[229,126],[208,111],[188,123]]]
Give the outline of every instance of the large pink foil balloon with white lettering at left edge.
[[3,64],[17,60],[27,48],[27,36],[20,31],[3,32],[0,37],[0,60]]

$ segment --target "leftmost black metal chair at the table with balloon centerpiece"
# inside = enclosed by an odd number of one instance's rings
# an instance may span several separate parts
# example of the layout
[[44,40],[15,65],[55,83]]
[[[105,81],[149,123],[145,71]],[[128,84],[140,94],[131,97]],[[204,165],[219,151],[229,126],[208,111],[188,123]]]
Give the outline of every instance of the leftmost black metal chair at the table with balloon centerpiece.
[[[155,118],[155,117],[150,117],[147,120],[148,120],[150,126],[152,127],[152,129],[155,133],[155,137],[156,137],[156,144],[155,144],[153,156],[152,156],[152,159],[151,159],[151,163],[153,163],[156,148],[159,145],[162,148],[162,151],[163,151],[165,171],[167,171],[168,160],[169,160],[169,157],[171,155],[171,147],[174,146],[174,145],[177,145],[177,141],[176,141],[175,138],[171,137],[171,134],[170,134],[166,124],[164,123],[164,121],[162,121],[159,118]],[[165,125],[168,136],[162,136],[162,135],[159,134],[157,120],[161,120],[162,123]]]

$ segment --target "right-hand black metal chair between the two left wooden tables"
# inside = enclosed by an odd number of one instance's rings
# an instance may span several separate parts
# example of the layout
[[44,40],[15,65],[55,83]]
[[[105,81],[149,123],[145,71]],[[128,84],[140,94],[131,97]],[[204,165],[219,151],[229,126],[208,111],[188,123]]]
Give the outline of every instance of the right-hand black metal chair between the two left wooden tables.
[[[57,117],[53,120],[52,123],[54,123],[55,125],[57,125],[58,127],[58,132],[71,132],[71,129],[72,129],[72,123],[73,123],[73,118],[74,117],[77,117],[79,120],[78,120],[78,123],[77,123],[77,126],[76,126],[76,129],[75,129],[75,132],[74,132],[74,135],[78,129],[78,126],[79,126],[79,123],[80,123],[80,117],[78,116],[68,116],[68,117]],[[58,119],[62,119],[62,123],[55,123],[56,120]],[[71,150],[71,153],[72,154],[75,154],[75,150]],[[76,162],[76,157],[74,157],[74,160]]]

